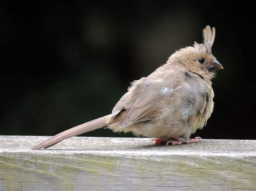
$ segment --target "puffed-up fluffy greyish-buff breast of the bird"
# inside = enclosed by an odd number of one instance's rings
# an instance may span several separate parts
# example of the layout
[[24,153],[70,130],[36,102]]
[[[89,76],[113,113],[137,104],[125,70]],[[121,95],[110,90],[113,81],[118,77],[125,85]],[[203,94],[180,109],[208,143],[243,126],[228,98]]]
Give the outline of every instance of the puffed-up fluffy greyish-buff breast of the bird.
[[190,136],[197,129],[202,129],[211,116],[213,97],[210,84],[198,76],[190,76],[170,94],[169,107],[163,111],[164,114],[169,112],[170,125],[175,127],[173,129],[185,132],[181,136]]

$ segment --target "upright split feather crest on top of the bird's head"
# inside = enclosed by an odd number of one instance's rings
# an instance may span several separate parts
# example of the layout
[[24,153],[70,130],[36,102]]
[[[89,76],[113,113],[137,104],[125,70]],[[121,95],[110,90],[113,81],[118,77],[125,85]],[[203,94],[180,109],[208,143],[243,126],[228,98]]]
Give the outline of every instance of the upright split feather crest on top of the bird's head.
[[208,25],[203,30],[203,44],[194,43],[195,48],[203,49],[207,54],[211,54],[212,45],[215,38],[215,28]]

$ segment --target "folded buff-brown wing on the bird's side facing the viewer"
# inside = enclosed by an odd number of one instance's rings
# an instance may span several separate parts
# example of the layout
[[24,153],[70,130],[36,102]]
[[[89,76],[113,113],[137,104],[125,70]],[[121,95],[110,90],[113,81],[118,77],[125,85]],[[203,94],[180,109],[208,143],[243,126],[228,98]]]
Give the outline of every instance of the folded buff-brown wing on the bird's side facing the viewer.
[[[145,80],[146,81],[146,80]],[[126,111],[126,117],[120,123],[120,127],[126,127],[134,123],[149,121],[154,118],[156,108],[161,100],[171,96],[177,80],[150,80],[150,82],[134,82],[132,88],[120,99],[112,111],[114,118],[122,111]],[[149,81],[149,80],[148,80]]]

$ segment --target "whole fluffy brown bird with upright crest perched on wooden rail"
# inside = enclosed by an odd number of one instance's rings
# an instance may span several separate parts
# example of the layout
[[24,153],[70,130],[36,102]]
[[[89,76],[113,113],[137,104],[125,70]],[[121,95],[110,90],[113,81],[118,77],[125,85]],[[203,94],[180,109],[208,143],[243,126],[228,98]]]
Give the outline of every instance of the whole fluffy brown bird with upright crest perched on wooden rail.
[[206,26],[203,43],[181,48],[165,65],[132,82],[112,114],[76,126],[45,140],[32,150],[108,126],[114,132],[156,138],[156,143],[196,143],[190,138],[206,125],[213,111],[212,78],[223,66],[212,55],[215,29]]

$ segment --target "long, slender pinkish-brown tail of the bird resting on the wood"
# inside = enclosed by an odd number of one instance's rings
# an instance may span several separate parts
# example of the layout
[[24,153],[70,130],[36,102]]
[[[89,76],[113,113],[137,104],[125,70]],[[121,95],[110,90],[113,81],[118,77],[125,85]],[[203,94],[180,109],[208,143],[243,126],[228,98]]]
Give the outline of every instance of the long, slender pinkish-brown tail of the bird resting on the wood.
[[109,125],[110,117],[111,117],[111,115],[100,117],[98,119],[84,123],[82,125],[75,126],[75,128],[71,128],[69,130],[63,131],[63,132],[57,134],[56,136],[53,136],[53,137],[45,140],[44,142],[40,143],[39,145],[34,146],[33,148],[31,148],[31,150],[39,150],[42,148],[49,148],[49,147],[61,142],[64,139],[67,139],[67,138],[70,138],[73,136],[77,136],[77,135],[80,135],[80,134],[83,134],[83,133],[86,133],[89,131],[93,131],[96,129],[103,128],[104,126]]

